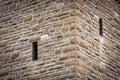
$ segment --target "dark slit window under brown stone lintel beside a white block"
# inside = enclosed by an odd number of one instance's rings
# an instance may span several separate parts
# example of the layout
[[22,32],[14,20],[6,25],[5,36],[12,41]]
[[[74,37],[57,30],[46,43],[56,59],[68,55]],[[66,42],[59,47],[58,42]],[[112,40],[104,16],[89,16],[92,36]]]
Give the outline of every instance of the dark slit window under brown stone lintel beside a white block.
[[32,43],[32,60],[38,60],[38,44],[37,41]]

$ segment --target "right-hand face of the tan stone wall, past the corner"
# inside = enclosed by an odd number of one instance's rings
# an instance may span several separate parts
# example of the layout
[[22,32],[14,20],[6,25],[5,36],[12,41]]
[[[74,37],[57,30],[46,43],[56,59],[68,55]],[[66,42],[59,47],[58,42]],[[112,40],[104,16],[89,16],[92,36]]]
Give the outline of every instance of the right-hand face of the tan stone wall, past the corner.
[[[117,6],[114,0],[86,0],[78,1],[76,6],[74,41],[80,48],[76,60],[79,80],[119,80],[120,4]],[[100,18],[103,36],[99,33]]]

